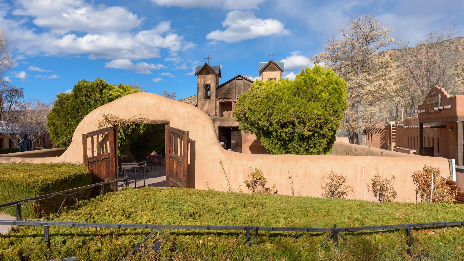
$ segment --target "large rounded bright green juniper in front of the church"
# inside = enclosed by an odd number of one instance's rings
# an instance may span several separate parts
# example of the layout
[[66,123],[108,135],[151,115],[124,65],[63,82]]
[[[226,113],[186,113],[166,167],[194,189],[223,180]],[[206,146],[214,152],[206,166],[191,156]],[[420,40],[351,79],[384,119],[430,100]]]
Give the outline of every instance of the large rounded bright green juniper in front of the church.
[[346,109],[346,82],[315,65],[294,81],[256,81],[237,99],[239,129],[272,154],[328,154]]

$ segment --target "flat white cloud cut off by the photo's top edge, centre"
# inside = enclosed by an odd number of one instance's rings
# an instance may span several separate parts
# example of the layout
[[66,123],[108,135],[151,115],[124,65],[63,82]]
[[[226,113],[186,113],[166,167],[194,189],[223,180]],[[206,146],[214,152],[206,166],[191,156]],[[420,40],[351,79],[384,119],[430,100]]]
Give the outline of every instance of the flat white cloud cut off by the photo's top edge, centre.
[[224,9],[258,8],[258,4],[265,0],[151,0],[157,5],[166,7],[217,7]]

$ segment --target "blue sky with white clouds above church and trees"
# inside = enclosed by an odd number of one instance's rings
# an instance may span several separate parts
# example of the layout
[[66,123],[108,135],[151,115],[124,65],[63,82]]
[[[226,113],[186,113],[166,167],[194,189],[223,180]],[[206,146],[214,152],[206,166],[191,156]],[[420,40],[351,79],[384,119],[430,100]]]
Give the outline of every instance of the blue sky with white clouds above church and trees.
[[294,77],[356,13],[376,14],[403,41],[452,19],[464,32],[462,0],[0,0],[14,59],[3,77],[43,100],[97,77],[185,98],[208,54],[220,83],[257,77],[271,51]]

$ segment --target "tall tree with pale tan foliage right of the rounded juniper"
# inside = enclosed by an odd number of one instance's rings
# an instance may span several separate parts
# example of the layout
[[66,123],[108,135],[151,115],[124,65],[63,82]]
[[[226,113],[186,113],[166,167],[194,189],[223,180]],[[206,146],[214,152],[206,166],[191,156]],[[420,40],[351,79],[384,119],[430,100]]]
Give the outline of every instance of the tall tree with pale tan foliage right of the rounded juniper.
[[348,132],[350,143],[366,144],[364,130],[386,116],[387,99],[393,96],[393,63],[379,56],[380,48],[396,42],[388,24],[380,23],[375,15],[348,18],[340,27],[341,39],[332,35],[326,40],[325,52],[313,61],[325,63],[348,84],[347,110],[342,128]]

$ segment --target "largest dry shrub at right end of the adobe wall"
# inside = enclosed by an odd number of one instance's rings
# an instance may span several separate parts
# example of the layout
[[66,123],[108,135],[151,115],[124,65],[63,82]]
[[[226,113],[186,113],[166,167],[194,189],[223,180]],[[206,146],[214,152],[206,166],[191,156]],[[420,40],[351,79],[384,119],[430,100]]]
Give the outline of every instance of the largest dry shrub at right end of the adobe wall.
[[431,186],[433,175],[433,192],[432,202],[434,203],[452,203],[454,201],[455,191],[446,186],[446,179],[441,176],[439,168],[424,166],[424,170],[416,170],[412,174],[412,180],[416,184],[416,195],[420,196],[421,202],[430,202]]

